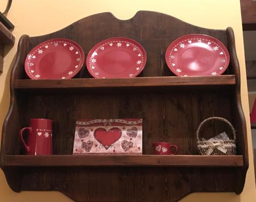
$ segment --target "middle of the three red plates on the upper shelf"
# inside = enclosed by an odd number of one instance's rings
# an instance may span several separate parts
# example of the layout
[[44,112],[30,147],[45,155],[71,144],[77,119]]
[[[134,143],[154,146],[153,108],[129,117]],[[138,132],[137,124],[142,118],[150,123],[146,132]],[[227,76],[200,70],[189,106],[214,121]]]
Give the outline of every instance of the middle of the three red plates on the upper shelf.
[[109,38],[89,52],[87,69],[94,78],[136,77],[146,64],[146,52],[130,38]]

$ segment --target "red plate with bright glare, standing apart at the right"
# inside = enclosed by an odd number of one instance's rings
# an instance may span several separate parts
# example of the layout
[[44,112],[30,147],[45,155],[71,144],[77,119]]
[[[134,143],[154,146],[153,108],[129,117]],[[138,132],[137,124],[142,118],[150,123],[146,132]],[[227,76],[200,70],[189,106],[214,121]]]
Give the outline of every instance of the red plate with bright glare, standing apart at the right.
[[190,34],[169,45],[165,60],[170,71],[177,76],[216,76],[227,69],[229,53],[214,37]]

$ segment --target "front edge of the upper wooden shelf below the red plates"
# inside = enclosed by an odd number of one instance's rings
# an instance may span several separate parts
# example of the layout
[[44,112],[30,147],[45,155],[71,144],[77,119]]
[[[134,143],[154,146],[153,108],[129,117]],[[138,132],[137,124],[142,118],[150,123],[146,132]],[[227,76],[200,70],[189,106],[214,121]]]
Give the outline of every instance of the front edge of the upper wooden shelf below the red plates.
[[121,79],[66,79],[66,80],[15,80],[15,88],[115,88],[146,86],[205,86],[235,85],[234,75],[190,77],[137,77]]

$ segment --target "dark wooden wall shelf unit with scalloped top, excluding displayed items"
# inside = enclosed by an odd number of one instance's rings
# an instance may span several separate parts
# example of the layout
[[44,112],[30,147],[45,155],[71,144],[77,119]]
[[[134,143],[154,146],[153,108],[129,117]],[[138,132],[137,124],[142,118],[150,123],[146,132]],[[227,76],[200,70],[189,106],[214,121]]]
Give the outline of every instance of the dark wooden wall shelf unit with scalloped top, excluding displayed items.
[[[223,75],[176,77],[169,71],[165,51],[170,42],[195,33],[216,37],[228,48],[230,64]],[[24,62],[40,42],[69,38],[87,55],[99,41],[116,36],[132,38],[145,49],[147,62],[138,78],[92,79],[83,66],[74,79],[28,80]],[[139,11],[128,20],[100,13],[48,35],[24,35],[11,73],[1,168],[15,192],[57,190],[75,201],[172,202],[191,192],[240,194],[248,169],[240,80],[231,28],[200,28],[163,13]],[[237,155],[198,155],[197,127],[214,116],[229,120],[237,130]],[[19,130],[31,118],[53,120],[54,155],[24,155]],[[143,119],[143,155],[72,155],[75,122],[82,118]],[[219,122],[206,124],[202,136],[209,139],[222,131],[232,138]],[[178,155],[153,155],[152,144],[159,141],[178,145]]]

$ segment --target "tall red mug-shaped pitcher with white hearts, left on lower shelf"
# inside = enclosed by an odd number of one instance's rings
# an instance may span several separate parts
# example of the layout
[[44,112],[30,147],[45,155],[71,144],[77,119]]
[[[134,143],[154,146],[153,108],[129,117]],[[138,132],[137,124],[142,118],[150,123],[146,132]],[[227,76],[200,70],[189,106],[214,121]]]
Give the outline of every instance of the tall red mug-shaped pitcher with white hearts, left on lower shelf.
[[[29,155],[52,154],[52,120],[30,119],[29,127],[19,131],[20,139]],[[28,143],[23,139],[23,131],[28,130]]]

